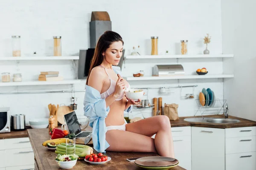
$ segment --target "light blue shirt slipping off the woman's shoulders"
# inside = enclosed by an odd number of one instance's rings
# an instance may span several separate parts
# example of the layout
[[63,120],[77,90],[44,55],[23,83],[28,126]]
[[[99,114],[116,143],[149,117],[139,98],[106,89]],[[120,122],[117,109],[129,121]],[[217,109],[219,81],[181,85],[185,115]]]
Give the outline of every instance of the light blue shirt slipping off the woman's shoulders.
[[[121,73],[121,69],[117,66],[112,66],[116,74]],[[121,75],[121,74],[120,74]],[[106,141],[106,124],[105,118],[110,111],[109,106],[106,108],[105,99],[101,99],[99,91],[88,85],[85,86],[86,91],[84,95],[84,116],[90,119],[90,127],[93,127],[92,138],[93,148],[97,152],[105,153],[110,146]],[[130,113],[132,106],[125,110]]]

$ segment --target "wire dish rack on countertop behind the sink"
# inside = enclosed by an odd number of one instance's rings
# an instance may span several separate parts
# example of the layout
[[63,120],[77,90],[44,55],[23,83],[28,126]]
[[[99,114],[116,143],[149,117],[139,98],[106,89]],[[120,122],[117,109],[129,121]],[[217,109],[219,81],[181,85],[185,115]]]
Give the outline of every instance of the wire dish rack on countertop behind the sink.
[[[201,115],[210,115],[210,114],[219,114],[219,113],[224,113],[225,112],[225,104],[227,102],[226,99],[215,99],[215,100],[205,100],[205,103],[211,103],[213,102],[212,105],[207,105],[207,106],[202,106],[201,102],[199,99],[196,100],[198,104],[198,110],[196,111],[195,115],[200,112]],[[195,116],[194,115],[194,116]]]

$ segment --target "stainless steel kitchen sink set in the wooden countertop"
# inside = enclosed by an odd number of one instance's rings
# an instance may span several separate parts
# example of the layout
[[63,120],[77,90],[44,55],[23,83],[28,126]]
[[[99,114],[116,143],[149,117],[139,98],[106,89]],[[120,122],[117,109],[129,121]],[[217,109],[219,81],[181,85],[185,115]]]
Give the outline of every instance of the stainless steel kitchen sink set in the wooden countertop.
[[199,123],[217,123],[217,124],[229,124],[229,123],[238,123],[238,119],[229,119],[229,118],[211,118],[211,117],[191,117],[184,119],[186,122],[199,122]]

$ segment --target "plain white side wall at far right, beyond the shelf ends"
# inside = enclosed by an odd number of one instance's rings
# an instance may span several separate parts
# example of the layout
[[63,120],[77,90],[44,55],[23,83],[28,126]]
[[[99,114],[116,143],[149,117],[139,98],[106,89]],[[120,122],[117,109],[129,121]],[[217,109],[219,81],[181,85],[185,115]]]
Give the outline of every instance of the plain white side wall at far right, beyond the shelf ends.
[[224,71],[234,72],[234,79],[224,81],[224,98],[229,102],[230,114],[256,121],[255,83],[256,48],[252,22],[255,0],[222,0],[222,44],[224,53],[234,59],[224,61]]

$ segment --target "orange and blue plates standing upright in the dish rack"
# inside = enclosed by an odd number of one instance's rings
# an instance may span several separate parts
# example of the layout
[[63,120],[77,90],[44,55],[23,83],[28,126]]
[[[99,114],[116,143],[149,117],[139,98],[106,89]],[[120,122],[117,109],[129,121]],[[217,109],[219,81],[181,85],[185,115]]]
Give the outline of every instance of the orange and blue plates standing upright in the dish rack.
[[215,95],[214,92],[210,89],[203,88],[202,92],[199,94],[199,101],[202,106],[213,107],[215,105]]

